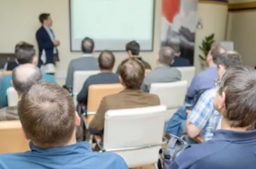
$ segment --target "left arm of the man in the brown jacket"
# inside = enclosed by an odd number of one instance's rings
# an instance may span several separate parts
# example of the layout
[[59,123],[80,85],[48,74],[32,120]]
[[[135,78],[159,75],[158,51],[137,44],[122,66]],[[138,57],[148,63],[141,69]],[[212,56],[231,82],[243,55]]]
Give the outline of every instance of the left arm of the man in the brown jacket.
[[100,104],[96,115],[90,122],[90,132],[100,132],[104,128],[104,122],[105,122],[105,113],[108,110],[108,105],[106,103],[106,98],[102,99],[102,103]]

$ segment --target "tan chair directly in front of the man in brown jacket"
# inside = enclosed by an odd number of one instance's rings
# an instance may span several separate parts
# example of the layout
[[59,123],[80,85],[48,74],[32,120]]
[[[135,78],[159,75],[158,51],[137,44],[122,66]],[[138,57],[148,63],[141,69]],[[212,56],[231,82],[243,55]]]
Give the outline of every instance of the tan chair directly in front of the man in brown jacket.
[[98,110],[98,107],[101,104],[102,99],[105,96],[119,93],[124,89],[125,87],[120,83],[90,85],[87,102],[87,128],[89,127],[90,121],[92,121],[94,115],[96,114],[96,110]]

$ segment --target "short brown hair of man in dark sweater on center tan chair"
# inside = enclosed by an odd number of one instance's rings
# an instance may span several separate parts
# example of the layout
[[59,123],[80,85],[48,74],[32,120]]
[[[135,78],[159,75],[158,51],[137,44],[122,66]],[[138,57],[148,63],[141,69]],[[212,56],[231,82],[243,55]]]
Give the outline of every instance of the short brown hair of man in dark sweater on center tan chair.
[[112,70],[115,62],[114,55],[109,50],[104,50],[98,58],[101,70]]

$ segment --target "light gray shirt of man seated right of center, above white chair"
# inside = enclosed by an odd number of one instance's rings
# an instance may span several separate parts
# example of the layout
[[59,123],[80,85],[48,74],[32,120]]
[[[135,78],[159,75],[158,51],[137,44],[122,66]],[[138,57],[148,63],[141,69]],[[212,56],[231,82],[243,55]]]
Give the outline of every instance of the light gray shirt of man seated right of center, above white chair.
[[177,82],[181,80],[181,72],[174,67],[162,66],[148,72],[143,82],[143,91],[149,92],[150,85],[156,82]]

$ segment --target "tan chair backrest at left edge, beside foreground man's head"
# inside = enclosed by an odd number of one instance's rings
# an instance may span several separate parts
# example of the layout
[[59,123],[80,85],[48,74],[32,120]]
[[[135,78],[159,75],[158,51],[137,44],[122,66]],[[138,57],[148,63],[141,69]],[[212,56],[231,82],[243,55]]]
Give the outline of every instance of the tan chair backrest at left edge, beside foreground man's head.
[[28,140],[23,137],[20,121],[0,121],[0,155],[29,150]]

